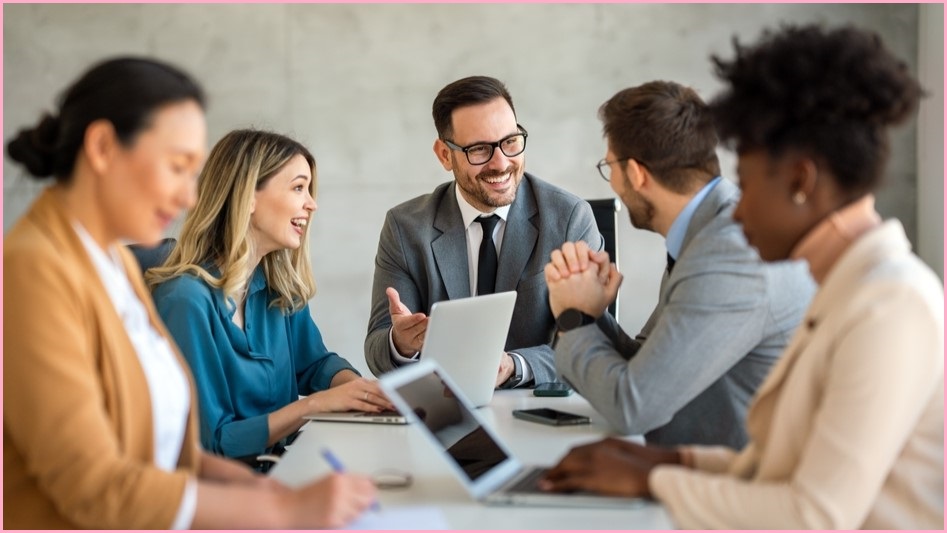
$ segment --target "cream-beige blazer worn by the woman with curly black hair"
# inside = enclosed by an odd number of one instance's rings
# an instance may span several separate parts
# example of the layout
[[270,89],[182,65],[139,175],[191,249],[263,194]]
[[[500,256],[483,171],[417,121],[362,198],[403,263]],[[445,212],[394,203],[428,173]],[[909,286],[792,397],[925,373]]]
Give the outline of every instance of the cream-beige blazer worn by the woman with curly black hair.
[[739,453],[652,470],[681,527],[941,529],[944,289],[897,221],[841,257],[760,387]]

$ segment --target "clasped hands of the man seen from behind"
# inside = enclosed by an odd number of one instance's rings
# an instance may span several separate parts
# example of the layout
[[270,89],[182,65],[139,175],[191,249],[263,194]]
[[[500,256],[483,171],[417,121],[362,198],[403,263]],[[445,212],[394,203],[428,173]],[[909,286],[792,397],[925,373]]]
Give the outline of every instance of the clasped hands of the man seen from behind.
[[608,252],[596,252],[584,241],[567,242],[550,254],[546,265],[549,307],[557,317],[566,309],[578,309],[599,318],[615,301],[622,275]]

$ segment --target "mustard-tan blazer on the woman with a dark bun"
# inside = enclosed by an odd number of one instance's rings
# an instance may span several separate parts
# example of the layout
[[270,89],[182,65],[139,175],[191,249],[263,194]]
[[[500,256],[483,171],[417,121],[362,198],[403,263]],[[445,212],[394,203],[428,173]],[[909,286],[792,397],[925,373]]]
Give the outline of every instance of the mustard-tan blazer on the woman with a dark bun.
[[[47,189],[3,246],[3,526],[168,528],[198,468],[195,406],[178,470],[158,469],[144,372],[63,211]],[[170,341],[134,259],[122,261]]]

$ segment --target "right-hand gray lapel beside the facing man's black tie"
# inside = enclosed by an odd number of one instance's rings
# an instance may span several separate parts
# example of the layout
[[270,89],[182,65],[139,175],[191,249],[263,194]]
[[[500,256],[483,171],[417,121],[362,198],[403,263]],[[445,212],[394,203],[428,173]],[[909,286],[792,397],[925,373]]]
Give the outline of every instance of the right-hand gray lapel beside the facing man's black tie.
[[536,213],[536,197],[527,175],[524,174],[516,200],[510,206],[506,229],[503,231],[503,245],[500,247],[497,264],[496,292],[516,290],[539,239],[539,230],[532,220]]

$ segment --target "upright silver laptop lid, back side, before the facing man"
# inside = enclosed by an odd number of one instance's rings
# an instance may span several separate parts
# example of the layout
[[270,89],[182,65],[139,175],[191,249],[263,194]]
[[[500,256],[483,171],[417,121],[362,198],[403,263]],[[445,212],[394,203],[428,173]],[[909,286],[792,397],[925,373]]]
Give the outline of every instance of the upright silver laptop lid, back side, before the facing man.
[[437,361],[476,407],[490,403],[516,304],[516,291],[431,306],[421,360]]

